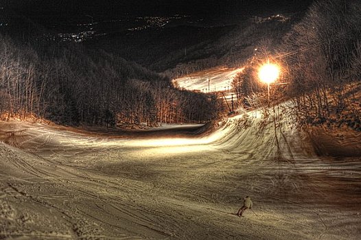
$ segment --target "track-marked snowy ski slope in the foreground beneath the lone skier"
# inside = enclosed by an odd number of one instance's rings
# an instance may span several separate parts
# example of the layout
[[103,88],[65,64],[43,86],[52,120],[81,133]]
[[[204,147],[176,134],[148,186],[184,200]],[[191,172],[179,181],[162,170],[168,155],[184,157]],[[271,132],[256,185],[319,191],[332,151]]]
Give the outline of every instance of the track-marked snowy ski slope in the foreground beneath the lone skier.
[[283,110],[176,138],[1,122],[0,239],[360,239],[361,160],[316,156]]

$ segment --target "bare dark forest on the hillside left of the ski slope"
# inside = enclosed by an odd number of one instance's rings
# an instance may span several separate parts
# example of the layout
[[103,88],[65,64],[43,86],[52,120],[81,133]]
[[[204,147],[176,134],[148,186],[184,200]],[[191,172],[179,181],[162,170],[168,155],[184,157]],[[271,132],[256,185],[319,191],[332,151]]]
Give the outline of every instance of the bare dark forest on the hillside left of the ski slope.
[[0,36],[0,116],[79,123],[204,122],[219,117],[216,96],[180,91],[161,76],[80,45],[16,43]]

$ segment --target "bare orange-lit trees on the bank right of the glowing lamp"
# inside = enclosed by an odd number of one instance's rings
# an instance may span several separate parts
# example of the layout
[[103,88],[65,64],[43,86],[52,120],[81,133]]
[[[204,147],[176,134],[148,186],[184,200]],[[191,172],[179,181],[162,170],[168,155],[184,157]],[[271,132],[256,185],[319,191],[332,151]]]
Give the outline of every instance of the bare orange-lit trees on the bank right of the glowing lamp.
[[[282,46],[299,117],[361,130],[361,1],[315,1]],[[284,51],[286,49],[286,51]]]

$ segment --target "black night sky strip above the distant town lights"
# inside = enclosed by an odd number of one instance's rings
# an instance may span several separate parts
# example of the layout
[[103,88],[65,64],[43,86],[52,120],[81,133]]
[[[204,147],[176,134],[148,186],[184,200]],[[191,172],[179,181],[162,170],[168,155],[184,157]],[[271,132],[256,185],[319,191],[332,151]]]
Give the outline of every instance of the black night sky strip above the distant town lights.
[[[0,0],[24,14],[261,14],[294,12],[312,0]],[[0,6],[1,6],[0,5]]]

